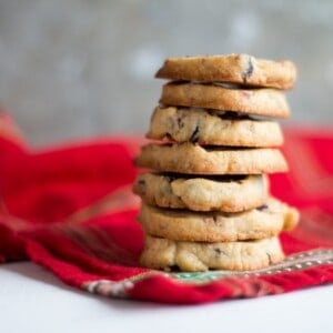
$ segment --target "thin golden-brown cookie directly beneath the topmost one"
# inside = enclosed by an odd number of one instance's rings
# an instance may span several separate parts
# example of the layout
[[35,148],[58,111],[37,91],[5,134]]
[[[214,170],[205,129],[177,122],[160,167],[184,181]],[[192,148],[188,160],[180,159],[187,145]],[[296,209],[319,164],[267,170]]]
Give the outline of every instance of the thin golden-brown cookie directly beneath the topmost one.
[[212,84],[168,83],[163,85],[160,103],[276,118],[290,115],[285,95],[275,89],[229,89]]

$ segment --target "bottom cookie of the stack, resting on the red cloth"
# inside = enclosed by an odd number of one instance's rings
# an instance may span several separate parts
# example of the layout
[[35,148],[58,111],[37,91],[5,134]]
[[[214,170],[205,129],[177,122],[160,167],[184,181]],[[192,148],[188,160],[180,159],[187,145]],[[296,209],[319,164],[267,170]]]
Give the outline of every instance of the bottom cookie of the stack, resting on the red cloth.
[[140,262],[150,269],[184,272],[209,269],[248,271],[266,268],[284,259],[278,238],[249,242],[176,242],[145,235]]

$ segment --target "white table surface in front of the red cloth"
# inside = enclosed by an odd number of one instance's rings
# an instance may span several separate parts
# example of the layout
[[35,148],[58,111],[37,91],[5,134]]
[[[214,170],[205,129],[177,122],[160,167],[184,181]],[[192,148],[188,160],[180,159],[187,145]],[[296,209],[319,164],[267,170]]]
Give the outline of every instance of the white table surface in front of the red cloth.
[[0,332],[333,332],[333,285],[175,306],[103,299],[32,263],[0,265]]

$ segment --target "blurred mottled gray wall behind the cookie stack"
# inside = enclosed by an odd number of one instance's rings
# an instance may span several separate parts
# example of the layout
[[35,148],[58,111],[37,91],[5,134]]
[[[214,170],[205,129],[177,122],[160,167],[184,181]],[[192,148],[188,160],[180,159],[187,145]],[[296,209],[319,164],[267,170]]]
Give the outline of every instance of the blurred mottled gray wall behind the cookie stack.
[[0,0],[0,104],[30,142],[141,133],[169,56],[292,59],[289,121],[333,125],[333,1]]

